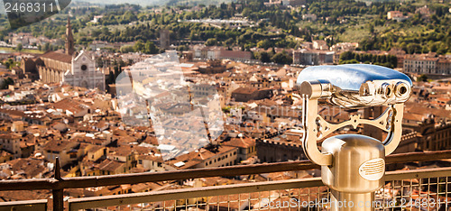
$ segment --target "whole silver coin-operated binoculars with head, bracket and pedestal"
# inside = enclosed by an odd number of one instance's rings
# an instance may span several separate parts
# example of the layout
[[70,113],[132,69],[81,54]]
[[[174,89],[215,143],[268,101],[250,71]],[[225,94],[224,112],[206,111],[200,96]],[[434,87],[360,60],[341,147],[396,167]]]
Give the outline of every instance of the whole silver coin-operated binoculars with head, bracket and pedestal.
[[[400,142],[403,103],[410,97],[412,82],[406,75],[375,65],[309,67],[299,73],[303,123],[303,149],[310,161],[321,166],[323,183],[331,188],[332,210],[374,210],[374,191],[384,184],[385,156]],[[340,124],[329,124],[318,115],[318,99],[355,109],[387,105],[373,119],[352,115]],[[318,150],[317,142],[337,129],[371,124],[388,133],[385,141],[359,134],[327,138]]]

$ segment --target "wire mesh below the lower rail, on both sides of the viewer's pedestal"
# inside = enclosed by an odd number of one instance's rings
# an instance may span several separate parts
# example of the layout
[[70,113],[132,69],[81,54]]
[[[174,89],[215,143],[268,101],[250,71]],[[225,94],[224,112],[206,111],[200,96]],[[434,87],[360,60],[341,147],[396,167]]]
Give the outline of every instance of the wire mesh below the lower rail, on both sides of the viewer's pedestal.
[[[451,210],[447,177],[388,180],[375,193],[376,210]],[[329,210],[327,187],[277,189],[233,195],[182,198],[96,210]]]

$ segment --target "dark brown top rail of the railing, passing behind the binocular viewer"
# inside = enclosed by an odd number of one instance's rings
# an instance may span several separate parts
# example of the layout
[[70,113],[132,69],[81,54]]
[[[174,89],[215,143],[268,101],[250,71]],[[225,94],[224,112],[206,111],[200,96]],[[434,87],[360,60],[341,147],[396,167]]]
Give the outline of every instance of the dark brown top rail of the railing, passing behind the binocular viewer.
[[[439,161],[451,159],[451,150],[410,152],[387,156],[386,163],[403,163],[411,161]],[[238,175],[262,174],[291,170],[312,170],[319,166],[311,161],[288,161],[278,163],[254,164],[245,166],[229,166],[196,170],[177,170],[162,172],[144,172],[97,177],[75,177],[62,179],[20,179],[0,181],[0,191],[23,189],[63,189],[114,186],[143,182],[167,180],[196,179],[208,177],[230,177]]]

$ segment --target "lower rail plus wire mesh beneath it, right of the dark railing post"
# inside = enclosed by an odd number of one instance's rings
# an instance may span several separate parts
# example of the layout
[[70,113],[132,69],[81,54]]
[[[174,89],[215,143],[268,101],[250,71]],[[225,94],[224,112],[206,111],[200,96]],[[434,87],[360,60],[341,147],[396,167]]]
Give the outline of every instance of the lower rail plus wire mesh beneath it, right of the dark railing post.
[[[451,210],[447,176],[451,177],[451,168],[389,172],[385,185],[375,192],[375,201],[363,206]],[[330,198],[330,189],[320,178],[313,178],[70,199],[69,204],[74,204],[70,210],[102,205],[108,206],[98,210],[329,210]]]

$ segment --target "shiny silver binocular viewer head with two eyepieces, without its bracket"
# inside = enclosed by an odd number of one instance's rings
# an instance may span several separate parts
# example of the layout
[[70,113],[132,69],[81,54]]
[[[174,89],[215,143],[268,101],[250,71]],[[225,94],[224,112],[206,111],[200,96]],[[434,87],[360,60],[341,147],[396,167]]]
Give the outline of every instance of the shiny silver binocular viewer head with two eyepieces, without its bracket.
[[346,108],[393,105],[406,102],[410,78],[394,69],[376,65],[348,64],[308,67],[299,73],[299,95],[328,98]]

